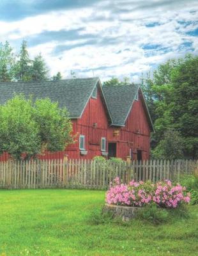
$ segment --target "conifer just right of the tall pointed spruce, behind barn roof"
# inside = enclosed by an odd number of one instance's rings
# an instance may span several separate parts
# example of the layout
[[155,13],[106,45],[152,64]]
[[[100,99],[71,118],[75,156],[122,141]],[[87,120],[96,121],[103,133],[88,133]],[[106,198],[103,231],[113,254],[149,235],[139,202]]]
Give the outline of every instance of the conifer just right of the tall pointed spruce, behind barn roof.
[[45,60],[43,60],[42,54],[38,54],[33,60],[33,65],[31,68],[31,80],[32,81],[45,81],[48,79],[49,70],[47,68],[47,65],[45,63]]

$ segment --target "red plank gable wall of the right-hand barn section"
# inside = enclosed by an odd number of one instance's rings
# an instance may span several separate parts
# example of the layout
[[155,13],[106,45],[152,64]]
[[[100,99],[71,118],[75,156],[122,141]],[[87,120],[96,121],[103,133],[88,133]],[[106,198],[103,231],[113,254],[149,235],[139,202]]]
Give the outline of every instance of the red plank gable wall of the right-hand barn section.
[[[118,136],[114,136],[115,130],[119,131]],[[137,159],[137,150],[142,151],[142,159],[149,158],[150,128],[141,95],[133,102],[125,127],[109,127],[108,141],[117,143],[116,157],[126,159],[131,149],[133,159]]]

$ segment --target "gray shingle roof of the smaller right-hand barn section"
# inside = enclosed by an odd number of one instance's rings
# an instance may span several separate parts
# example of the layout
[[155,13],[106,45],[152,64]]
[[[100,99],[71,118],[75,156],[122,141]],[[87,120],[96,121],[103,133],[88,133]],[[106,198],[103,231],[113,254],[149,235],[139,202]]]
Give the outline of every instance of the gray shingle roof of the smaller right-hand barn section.
[[102,86],[113,125],[125,125],[125,120],[132,107],[138,88],[139,84]]

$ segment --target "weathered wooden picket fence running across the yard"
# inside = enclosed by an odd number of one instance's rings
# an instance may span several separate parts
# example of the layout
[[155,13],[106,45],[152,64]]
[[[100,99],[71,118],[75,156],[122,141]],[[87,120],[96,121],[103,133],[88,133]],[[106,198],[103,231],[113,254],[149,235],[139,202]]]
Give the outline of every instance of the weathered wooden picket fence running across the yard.
[[131,179],[177,181],[180,175],[198,168],[192,160],[150,160],[132,163],[93,160],[31,160],[0,162],[0,188],[86,188],[106,189],[115,177],[123,182]]

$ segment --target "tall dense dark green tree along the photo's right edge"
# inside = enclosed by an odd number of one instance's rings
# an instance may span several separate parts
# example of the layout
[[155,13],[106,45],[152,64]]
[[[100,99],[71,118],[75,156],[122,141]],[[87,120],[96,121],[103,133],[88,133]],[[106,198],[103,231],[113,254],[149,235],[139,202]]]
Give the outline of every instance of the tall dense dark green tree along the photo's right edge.
[[198,56],[179,60],[171,74],[173,91],[170,104],[173,127],[181,132],[185,155],[198,157]]

